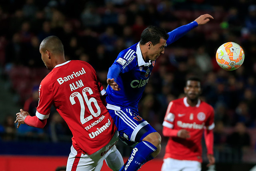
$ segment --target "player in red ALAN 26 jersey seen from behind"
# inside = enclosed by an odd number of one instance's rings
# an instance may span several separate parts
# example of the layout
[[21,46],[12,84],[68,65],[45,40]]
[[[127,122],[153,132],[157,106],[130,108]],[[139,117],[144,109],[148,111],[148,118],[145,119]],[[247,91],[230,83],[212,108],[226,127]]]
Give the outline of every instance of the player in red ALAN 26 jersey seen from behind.
[[20,109],[17,127],[26,123],[43,128],[54,105],[73,134],[67,171],[100,171],[104,159],[112,170],[119,170],[124,161],[115,146],[118,131],[101,99],[106,91],[94,68],[87,62],[66,61],[56,36],[41,42],[40,54],[52,71],[40,84],[36,116]]

